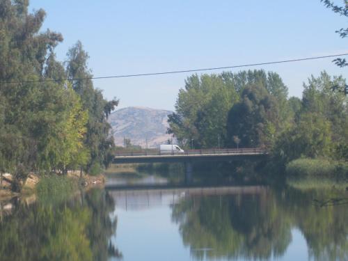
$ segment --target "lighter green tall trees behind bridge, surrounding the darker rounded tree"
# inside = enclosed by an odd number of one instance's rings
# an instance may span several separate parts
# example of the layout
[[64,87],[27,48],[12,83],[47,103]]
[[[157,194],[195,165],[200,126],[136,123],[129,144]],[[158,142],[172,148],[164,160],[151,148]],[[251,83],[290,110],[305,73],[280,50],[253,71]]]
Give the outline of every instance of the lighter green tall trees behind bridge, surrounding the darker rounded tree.
[[[262,95],[274,100],[272,109],[278,113],[277,124],[286,122],[287,87],[275,72],[249,70],[235,74],[193,74],[185,81],[185,88],[179,91],[175,113],[169,116],[170,132],[187,146],[192,140],[198,148],[217,147],[219,143],[225,147],[231,145],[236,133],[228,128],[231,125],[230,110],[245,102],[250,88],[262,90]],[[246,122],[235,124],[244,125]]]

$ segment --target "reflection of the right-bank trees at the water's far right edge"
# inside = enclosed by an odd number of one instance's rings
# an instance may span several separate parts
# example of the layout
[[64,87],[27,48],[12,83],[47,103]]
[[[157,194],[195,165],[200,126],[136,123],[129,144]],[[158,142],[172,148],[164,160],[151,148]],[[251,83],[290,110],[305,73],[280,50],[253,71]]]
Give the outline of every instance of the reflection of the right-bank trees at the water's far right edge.
[[[309,255],[315,260],[348,260],[348,207],[313,204],[315,198],[333,198],[338,192],[287,189],[283,205],[293,226],[301,230],[308,244]],[[340,195],[342,196],[342,194]]]

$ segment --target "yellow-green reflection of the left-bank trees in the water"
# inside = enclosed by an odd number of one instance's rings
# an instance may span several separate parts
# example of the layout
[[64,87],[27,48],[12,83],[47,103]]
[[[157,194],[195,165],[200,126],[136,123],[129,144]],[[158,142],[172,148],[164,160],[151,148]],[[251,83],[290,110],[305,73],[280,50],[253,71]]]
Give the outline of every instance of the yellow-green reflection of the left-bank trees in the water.
[[117,219],[112,198],[95,190],[63,205],[19,205],[0,223],[1,260],[107,260]]

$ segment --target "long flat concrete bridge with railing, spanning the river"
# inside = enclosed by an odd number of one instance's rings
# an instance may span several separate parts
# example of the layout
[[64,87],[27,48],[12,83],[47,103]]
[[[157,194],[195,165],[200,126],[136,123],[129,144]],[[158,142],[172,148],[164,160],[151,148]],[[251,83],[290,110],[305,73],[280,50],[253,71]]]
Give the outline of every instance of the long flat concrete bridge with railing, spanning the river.
[[267,151],[260,148],[239,149],[210,149],[186,150],[185,152],[129,152],[118,153],[113,158],[114,164],[155,163],[155,162],[183,162],[195,161],[236,161],[243,159],[264,159]]

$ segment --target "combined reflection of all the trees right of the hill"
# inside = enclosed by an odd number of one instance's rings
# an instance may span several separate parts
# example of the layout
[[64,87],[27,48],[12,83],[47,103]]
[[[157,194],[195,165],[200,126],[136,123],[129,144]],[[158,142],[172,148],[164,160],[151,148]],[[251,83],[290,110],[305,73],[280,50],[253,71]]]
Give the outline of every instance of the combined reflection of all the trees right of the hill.
[[312,204],[316,197],[294,189],[191,196],[173,205],[172,219],[198,259],[280,258],[299,228],[315,260],[348,260],[347,207],[320,208]]

